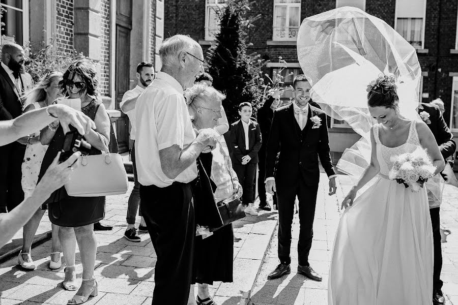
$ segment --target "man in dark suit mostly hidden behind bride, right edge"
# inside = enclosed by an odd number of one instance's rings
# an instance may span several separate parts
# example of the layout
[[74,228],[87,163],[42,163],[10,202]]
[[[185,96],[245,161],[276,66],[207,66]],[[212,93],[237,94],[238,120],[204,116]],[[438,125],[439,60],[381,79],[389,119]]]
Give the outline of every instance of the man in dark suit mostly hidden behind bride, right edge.
[[[453,156],[456,149],[456,144],[452,140],[453,135],[445,123],[442,116],[441,109],[438,105],[420,103],[418,105],[418,114],[421,119],[426,123],[433,133],[439,150],[441,151],[444,160]],[[450,166],[453,167],[453,161],[449,161]],[[445,170],[444,170],[445,172]],[[451,174],[453,172],[451,171]],[[444,175],[442,175],[444,176]],[[446,179],[446,177],[444,177]],[[441,269],[442,269],[442,250],[441,250],[441,230],[440,230],[440,204],[441,199],[433,198],[428,192],[428,202],[430,204],[431,224],[433,225],[433,244],[434,244],[434,268],[433,268],[433,304],[442,305],[445,303],[445,298],[442,293]]]

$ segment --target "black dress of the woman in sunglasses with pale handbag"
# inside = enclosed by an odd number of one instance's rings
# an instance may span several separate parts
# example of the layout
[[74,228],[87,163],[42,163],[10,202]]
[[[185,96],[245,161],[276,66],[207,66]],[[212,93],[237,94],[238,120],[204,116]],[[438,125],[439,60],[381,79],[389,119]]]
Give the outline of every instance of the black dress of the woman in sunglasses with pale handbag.
[[[101,101],[93,100],[87,106],[81,108],[81,111],[95,119],[97,109]],[[62,126],[55,132],[54,137],[49,143],[46,154],[41,164],[38,181],[51,165],[55,156],[58,154],[64,141],[64,131]],[[89,155],[100,155],[101,151],[92,147]],[[107,177],[108,178],[108,177]],[[51,223],[63,227],[81,227],[96,223],[105,216],[105,196],[101,197],[73,197],[67,194],[65,187],[56,190],[46,201],[49,208],[49,220]]]

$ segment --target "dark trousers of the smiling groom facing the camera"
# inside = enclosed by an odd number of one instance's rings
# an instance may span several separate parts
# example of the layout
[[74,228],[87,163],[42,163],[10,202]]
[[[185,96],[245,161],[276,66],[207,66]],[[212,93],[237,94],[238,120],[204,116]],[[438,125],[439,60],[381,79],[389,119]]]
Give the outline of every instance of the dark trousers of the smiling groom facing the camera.
[[308,266],[308,254],[310,252],[313,238],[313,219],[315,206],[317,204],[317,186],[308,186],[299,181],[287,187],[277,186],[278,202],[278,258],[284,264],[291,263],[291,226],[294,217],[294,202],[296,196],[299,199],[299,242],[297,251],[299,254],[299,265]]

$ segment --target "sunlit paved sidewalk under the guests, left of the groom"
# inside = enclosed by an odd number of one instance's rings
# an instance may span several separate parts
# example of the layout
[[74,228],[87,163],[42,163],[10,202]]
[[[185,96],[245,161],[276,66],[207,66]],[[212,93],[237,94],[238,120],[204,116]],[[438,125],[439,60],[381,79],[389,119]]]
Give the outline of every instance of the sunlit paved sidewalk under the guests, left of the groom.
[[[86,304],[139,305],[151,304],[154,289],[156,254],[148,233],[140,234],[141,242],[123,237],[126,229],[126,210],[133,182],[125,195],[107,197],[103,224],[112,225],[112,231],[96,231],[98,240],[95,278],[98,296]],[[277,220],[276,212],[262,211],[260,216],[247,216],[234,224],[234,283],[214,283],[210,292],[218,304],[246,303],[259,272],[265,251],[270,243]],[[44,226],[48,224],[43,217]],[[137,225],[139,218],[137,218]],[[19,242],[20,235],[15,242]],[[64,267],[51,270],[49,266],[51,242],[46,241],[32,249],[37,270],[26,271],[17,265],[17,257],[0,264],[1,304],[66,304],[75,294],[62,287]],[[79,250],[76,251],[78,281],[81,280]]]

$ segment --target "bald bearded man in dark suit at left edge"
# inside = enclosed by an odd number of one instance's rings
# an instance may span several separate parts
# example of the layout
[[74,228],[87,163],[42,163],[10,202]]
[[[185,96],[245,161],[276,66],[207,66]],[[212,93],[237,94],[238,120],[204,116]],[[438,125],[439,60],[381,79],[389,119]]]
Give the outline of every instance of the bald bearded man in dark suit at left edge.
[[[0,120],[22,113],[20,97],[33,86],[32,77],[24,72],[24,49],[15,43],[2,47],[0,64]],[[21,164],[25,145],[14,142],[0,147],[0,212],[11,211],[24,200],[21,187]]]

